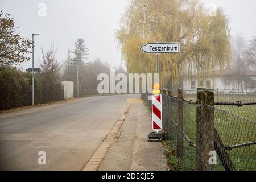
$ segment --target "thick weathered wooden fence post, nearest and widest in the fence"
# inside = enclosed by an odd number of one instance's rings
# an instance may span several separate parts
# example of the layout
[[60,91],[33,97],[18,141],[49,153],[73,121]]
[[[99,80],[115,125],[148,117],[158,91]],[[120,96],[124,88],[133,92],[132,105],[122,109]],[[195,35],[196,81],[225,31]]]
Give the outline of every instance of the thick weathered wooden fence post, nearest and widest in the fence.
[[212,170],[209,152],[214,151],[214,90],[197,88],[196,169]]

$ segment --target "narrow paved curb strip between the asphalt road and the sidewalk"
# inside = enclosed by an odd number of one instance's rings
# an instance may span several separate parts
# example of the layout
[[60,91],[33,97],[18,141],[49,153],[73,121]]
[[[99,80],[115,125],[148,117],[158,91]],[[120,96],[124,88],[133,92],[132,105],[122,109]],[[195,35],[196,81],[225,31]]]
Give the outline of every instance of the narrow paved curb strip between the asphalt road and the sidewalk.
[[119,130],[122,126],[123,121],[125,121],[126,115],[129,110],[129,106],[130,106],[130,104],[127,103],[125,111],[118,118],[117,122],[115,122],[115,125],[112,127],[109,134],[106,136],[106,138],[103,140],[101,145],[97,148],[97,150],[94,152],[94,154],[88,160],[88,162],[82,168],[82,171],[97,171],[98,170],[98,167],[100,167],[101,162],[105,158],[105,155],[109,150],[109,147],[114,142],[115,138],[117,138],[119,135]]

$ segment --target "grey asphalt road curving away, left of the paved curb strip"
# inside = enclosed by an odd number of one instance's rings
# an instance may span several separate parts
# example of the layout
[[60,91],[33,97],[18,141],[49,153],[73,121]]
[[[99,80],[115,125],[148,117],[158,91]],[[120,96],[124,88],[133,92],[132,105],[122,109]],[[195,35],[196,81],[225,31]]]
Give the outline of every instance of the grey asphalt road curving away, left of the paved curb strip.
[[[80,170],[135,95],[96,96],[0,114],[0,170]],[[38,164],[39,151],[46,165]]]

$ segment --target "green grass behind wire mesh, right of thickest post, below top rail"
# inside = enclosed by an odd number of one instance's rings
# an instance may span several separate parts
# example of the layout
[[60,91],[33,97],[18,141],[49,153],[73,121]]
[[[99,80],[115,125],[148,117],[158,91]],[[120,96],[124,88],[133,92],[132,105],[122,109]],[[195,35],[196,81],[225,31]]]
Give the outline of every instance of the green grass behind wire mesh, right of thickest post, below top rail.
[[[256,121],[248,120],[253,118],[253,110],[247,107],[234,106],[218,107],[214,110],[214,126],[218,131],[224,145],[234,145],[256,140]],[[240,110],[241,109],[241,110]],[[254,109],[256,107],[254,106]],[[229,112],[233,113],[230,114]],[[254,110],[255,112],[256,110]],[[234,148],[227,151],[236,170],[256,170],[256,146]]]

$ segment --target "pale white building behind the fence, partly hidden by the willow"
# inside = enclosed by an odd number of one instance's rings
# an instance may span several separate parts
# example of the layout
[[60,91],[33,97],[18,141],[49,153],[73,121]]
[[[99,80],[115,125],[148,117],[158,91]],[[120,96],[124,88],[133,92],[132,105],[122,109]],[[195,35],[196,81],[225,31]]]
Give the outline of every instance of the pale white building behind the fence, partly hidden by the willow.
[[[239,87],[240,92],[238,91],[238,85],[234,83],[225,83],[225,75],[229,71],[216,71],[214,73],[214,77],[210,76],[212,74],[209,74],[209,76],[206,76],[204,81],[203,79],[197,78],[197,74],[192,76],[186,76],[183,79],[183,88],[186,90],[189,90],[188,94],[196,94],[196,89],[201,88],[211,88],[211,89],[218,89],[220,92],[225,92],[225,90],[234,90],[236,93],[241,93],[241,85]],[[243,82],[243,92],[244,93],[251,93],[255,92],[256,90],[256,72],[246,72],[247,77],[254,80],[254,84],[246,85]],[[194,91],[193,91],[194,90]]]

